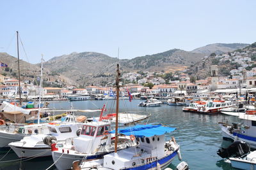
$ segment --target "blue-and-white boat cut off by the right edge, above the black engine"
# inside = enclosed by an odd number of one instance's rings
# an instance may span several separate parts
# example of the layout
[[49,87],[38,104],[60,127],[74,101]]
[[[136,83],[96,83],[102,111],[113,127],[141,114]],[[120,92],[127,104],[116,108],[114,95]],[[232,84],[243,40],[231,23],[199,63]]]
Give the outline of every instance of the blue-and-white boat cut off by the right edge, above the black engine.
[[249,143],[251,148],[256,149],[256,112],[239,115],[243,123],[228,124],[227,120],[219,122],[223,139],[242,140]]

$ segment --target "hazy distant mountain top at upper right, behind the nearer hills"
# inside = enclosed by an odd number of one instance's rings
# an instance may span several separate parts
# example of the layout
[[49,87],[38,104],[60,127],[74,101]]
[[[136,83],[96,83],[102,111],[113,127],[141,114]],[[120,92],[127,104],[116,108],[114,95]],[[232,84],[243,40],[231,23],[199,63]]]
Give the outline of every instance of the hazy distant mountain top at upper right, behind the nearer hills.
[[211,45],[202,46],[200,48],[196,48],[195,50],[191,51],[194,53],[204,53],[205,55],[210,55],[211,53],[221,54],[223,52],[232,52],[239,48],[244,48],[249,44],[244,43],[215,43]]

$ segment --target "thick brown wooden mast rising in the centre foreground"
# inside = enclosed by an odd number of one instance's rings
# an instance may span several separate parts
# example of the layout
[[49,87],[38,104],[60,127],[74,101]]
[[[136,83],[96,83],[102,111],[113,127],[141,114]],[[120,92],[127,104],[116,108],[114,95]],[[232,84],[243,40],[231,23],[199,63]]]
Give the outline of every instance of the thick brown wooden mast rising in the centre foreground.
[[116,69],[116,127],[115,127],[115,153],[117,152],[117,143],[118,143],[118,111],[119,111],[119,64],[117,64]]

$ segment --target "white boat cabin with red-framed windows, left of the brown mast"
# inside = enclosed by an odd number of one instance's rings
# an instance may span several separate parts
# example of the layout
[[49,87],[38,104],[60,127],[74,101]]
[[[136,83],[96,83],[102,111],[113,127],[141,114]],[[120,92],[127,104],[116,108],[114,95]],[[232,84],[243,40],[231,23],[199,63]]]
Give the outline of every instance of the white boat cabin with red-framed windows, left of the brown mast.
[[93,153],[101,145],[109,145],[109,122],[88,122],[83,124],[79,138],[74,138],[74,149],[81,153]]

